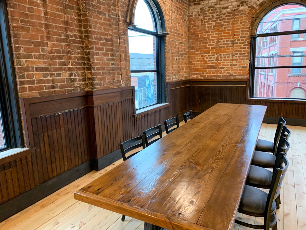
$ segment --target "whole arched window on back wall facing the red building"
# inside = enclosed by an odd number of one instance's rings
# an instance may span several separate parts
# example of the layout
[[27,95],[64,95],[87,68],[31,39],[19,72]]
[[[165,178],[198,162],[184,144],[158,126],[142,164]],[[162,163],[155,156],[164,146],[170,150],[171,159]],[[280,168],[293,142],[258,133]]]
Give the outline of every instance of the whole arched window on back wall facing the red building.
[[292,84],[306,82],[306,7],[297,3],[275,4],[257,18],[252,29],[251,98],[261,97],[258,82],[264,79],[270,82],[273,92],[263,97],[271,98],[286,98]]

